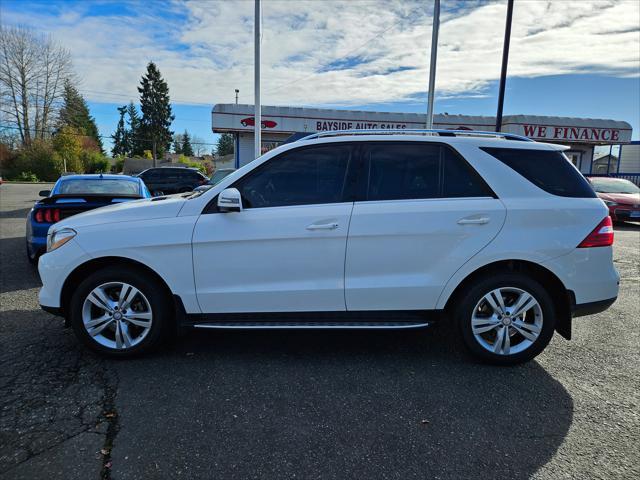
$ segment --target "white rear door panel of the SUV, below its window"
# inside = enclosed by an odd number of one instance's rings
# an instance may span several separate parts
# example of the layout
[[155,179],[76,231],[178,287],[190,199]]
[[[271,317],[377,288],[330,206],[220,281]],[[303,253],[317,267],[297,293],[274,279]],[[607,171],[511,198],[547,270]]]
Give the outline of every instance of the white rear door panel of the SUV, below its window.
[[494,198],[357,202],[347,241],[347,309],[435,308],[447,280],[504,219]]

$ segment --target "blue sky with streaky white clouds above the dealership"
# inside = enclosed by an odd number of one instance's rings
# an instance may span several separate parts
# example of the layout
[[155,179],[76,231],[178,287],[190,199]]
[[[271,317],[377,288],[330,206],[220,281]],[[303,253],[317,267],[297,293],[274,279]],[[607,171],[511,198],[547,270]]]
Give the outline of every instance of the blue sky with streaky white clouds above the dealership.
[[[212,106],[236,88],[253,103],[253,5],[0,0],[0,22],[71,52],[102,135],[153,61],[172,129],[214,143]],[[432,13],[425,0],[263,0],[262,103],[425,112]],[[505,14],[506,1],[442,0],[436,113],[495,115]],[[640,138],[640,1],[517,0],[508,75],[505,114],[625,120]]]

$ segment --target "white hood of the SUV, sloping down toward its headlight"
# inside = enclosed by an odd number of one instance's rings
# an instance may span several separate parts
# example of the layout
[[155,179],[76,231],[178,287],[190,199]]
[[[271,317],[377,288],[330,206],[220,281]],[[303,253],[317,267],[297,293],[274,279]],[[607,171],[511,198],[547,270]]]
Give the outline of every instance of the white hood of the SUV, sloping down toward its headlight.
[[180,195],[134,200],[79,213],[56,224],[60,227],[81,228],[105,223],[131,222],[154,218],[175,217],[186,199]]

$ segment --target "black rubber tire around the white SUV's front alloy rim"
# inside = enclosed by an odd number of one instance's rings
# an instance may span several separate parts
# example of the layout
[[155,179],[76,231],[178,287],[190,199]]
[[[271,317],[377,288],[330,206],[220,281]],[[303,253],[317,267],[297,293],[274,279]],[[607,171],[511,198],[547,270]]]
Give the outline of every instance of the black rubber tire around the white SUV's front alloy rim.
[[[85,299],[91,291],[109,282],[124,282],[137,288],[146,297],[152,311],[152,322],[149,332],[138,343],[130,348],[109,348],[98,343],[87,332],[82,311]],[[145,272],[126,266],[106,267],[89,275],[78,285],[69,304],[69,320],[76,337],[89,349],[110,357],[132,357],[159,347],[170,331],[173,322],[173,304],[164,285]]]

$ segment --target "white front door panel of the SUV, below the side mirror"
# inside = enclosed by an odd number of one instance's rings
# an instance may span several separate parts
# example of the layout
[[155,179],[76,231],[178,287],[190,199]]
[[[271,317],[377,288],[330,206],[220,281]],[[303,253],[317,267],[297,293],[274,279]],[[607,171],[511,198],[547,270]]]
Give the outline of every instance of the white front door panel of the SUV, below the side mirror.
[[344,311],[353,203],[201,215],[193,263],[203,313]]

